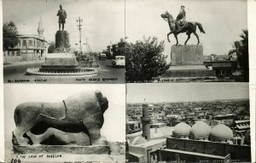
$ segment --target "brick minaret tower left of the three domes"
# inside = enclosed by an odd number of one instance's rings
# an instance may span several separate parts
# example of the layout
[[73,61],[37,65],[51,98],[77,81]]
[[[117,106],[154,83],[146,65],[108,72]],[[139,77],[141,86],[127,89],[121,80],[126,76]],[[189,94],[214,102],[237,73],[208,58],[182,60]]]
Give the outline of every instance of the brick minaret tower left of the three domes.
[[148,112],[148,104],[142,104],[142,108],[143,137],[146,138],[147,140],[150,140],[150,117]]

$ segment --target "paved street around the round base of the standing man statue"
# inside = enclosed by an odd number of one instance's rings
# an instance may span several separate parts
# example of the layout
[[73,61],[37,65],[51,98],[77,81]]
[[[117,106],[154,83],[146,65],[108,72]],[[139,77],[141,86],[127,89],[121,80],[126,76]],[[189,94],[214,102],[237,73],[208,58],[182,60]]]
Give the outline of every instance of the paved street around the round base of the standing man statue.
[[113,68],[111,60],[97,60],[101,66],[98,75],[84,76],[27,76],[27,68],[37,68],[44,62],[29,62],[3,66],[3,82],[15,83],[125,83],[125,69]]

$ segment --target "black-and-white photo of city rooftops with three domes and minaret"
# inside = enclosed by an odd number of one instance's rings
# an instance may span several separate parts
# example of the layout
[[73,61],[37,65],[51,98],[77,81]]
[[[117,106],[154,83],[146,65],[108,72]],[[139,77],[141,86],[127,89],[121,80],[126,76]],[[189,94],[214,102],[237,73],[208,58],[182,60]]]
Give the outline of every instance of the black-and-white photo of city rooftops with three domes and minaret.
[[247,83],[127,84],[126,160],[251,162],[248,90]]

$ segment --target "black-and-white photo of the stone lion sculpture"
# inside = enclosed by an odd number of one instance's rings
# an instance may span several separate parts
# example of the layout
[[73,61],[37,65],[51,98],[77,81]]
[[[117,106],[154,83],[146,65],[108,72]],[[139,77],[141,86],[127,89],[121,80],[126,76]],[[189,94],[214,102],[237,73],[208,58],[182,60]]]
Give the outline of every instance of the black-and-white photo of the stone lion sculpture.
[[4,140],[5,162],[125,162],[125,85],[5,84]]

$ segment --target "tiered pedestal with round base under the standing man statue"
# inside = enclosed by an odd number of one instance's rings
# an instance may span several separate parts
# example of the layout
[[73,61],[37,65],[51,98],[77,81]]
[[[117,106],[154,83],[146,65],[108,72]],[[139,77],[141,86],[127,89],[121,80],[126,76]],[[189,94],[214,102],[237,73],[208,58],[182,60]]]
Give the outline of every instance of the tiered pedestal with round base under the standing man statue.
[[[48,53],[41,68],[27,69],[26,74],[35,76],[97,76],[98,70],[79,65],[73,53],[64,52],[69,48],[67,31],[57,31],[55,34],[55,48],[60,52]],[[63,50],[61,52],[61,50]]]

